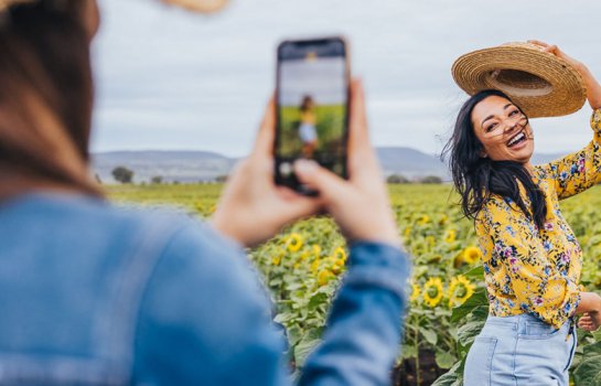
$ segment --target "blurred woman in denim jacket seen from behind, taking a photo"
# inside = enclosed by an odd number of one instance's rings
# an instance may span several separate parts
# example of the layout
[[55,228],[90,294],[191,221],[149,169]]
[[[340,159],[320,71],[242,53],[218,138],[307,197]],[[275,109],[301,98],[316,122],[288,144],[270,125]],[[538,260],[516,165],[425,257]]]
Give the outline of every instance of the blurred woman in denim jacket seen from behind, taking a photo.
[[95,0],[0,2],[0,384],[289,384],[243,247],[321,211],[353,244],[328,333],[300,383],[388,384],[409,262],[361,84],[351,87],[353,179],[296,165],[320,197],[273,185],[270,104],[211,225],[124,212],[88,178],[98,19]]

